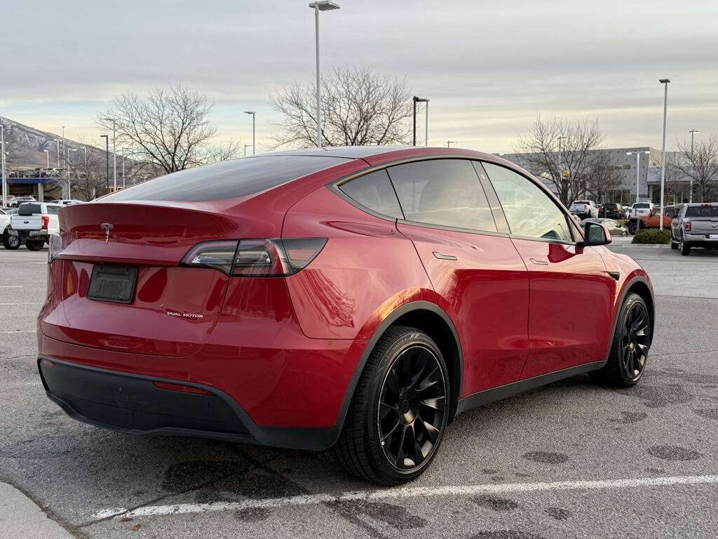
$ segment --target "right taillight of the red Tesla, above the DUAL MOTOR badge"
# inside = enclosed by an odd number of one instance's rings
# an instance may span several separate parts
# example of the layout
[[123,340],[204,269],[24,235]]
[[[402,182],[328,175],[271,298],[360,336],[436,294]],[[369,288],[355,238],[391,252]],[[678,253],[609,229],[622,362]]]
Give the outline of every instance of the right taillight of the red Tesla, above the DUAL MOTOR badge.
[[326,238],[241,239],[195,245],[182,266],[210,267],[236,277],[286,277],[312,262]]

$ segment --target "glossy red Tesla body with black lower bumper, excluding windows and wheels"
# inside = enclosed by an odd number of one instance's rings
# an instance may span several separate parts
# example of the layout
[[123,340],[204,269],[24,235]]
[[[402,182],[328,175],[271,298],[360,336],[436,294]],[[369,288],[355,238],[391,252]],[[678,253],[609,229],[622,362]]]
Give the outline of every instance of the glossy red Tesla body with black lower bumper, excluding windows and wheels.
[[[601,367],[629,290],[653,318],[648,276],[605,247],[392,220],[337,188],[427,159],[494,163],[531,178],[510,162],[382,147],[236,162],[311,156],[335,161],[236,198],[134,201],[139,186],[62,208],[37,328],[47,395],[73,418],[131,433],[322,449],[339,436],[363,364],[392,324],[419,327],[442,348],[453,417]],[[231,174],[236,162],[207,170]],[[276,238],[326,243],[283,277],[182,264],[202,242]],[[98,266],[136,268],[129,302],[88,297]]]

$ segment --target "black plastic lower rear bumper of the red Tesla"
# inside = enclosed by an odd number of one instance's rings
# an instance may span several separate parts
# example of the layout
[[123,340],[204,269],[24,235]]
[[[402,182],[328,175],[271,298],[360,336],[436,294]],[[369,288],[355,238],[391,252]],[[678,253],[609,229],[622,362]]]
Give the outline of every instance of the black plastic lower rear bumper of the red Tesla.
[[131,434],[202,436],[266,446],[322,450],[340,427],[288,428],[254,423],[242,407],[215,387],[179,382],[197,392],[169,390],[155,382],[178,381],[62,361],[37,359],[47,397],[71,418]]

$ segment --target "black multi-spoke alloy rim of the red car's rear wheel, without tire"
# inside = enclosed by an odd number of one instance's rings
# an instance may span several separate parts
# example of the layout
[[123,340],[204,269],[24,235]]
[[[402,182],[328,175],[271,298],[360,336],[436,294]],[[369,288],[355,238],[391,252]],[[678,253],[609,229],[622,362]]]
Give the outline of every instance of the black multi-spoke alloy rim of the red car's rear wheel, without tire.
[[444,428],[446,385],[437,357],[421,345],[404,349],[389,367],[377,425],[391,466],[414,471],[432,455]]

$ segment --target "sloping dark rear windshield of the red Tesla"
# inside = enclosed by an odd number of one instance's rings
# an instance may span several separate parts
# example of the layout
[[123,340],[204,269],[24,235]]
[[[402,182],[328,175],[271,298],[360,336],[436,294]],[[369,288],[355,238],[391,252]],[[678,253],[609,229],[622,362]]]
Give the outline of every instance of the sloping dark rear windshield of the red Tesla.
[[236,159],[154,178],[103,201],[216,201],[251,195],[348,161],[341,157],[276,155]]

